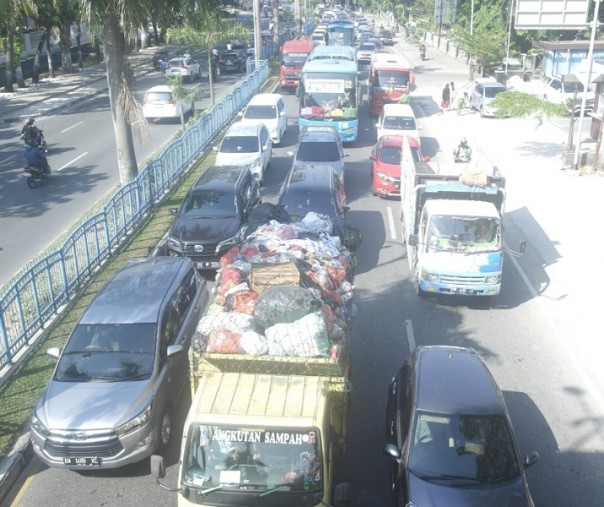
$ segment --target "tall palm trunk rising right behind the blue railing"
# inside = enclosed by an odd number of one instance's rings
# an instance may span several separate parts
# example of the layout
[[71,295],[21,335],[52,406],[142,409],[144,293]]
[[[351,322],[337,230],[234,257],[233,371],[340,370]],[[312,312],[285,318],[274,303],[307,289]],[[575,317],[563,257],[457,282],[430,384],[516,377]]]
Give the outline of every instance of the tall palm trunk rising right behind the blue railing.
[[107,13],[103,23],[103,46],[107,66],[109,104],[113,118],[117,164],[122,185],[132,181],[138,174],[132,128],[127,118],[127,85],[125,78],[124,37],[119,17]]

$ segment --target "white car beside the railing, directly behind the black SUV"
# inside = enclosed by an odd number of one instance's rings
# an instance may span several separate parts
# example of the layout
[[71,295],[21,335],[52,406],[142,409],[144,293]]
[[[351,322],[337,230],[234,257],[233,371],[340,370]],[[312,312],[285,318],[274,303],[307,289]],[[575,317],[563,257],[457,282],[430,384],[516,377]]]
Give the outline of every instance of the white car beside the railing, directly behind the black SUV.
[[262,185],[271,163],[273,143],[263,123],[233,123],[215,147],[216,165],[249,165],[254,178]]

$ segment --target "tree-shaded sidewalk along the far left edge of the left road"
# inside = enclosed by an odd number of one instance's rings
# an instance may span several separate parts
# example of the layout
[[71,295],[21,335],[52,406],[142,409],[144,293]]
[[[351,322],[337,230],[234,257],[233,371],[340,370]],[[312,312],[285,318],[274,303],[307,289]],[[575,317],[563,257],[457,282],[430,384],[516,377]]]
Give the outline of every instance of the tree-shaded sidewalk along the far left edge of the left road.
[[[141,49],[128,56],[135,74],[153,71],[152,57],[158,47]],[[84,69],[73,74],[43,78],[39,84],[16,88],[14,93],[0,91],[0,124],[20,123],[28,117],[50,114],[74,102],[107,90],[107,73],[103,62],[85,62]]]

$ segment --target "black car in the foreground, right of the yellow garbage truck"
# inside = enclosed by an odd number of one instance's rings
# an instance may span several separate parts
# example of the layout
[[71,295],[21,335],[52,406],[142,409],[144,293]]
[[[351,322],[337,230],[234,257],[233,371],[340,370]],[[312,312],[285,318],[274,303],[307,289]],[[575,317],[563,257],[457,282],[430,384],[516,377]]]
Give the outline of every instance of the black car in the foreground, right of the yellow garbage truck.
[[395,505],[533,507],[503,395],[472,349],[418,347],[388,390]]

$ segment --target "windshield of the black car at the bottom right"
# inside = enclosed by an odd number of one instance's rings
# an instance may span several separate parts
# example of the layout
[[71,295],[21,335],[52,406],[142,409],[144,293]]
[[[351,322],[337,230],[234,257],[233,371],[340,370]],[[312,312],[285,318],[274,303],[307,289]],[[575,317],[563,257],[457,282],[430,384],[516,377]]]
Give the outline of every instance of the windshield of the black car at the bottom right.
[[517,477],[520,465],[503,416],[419,412],[409,471],[424,480],[492,483]]

